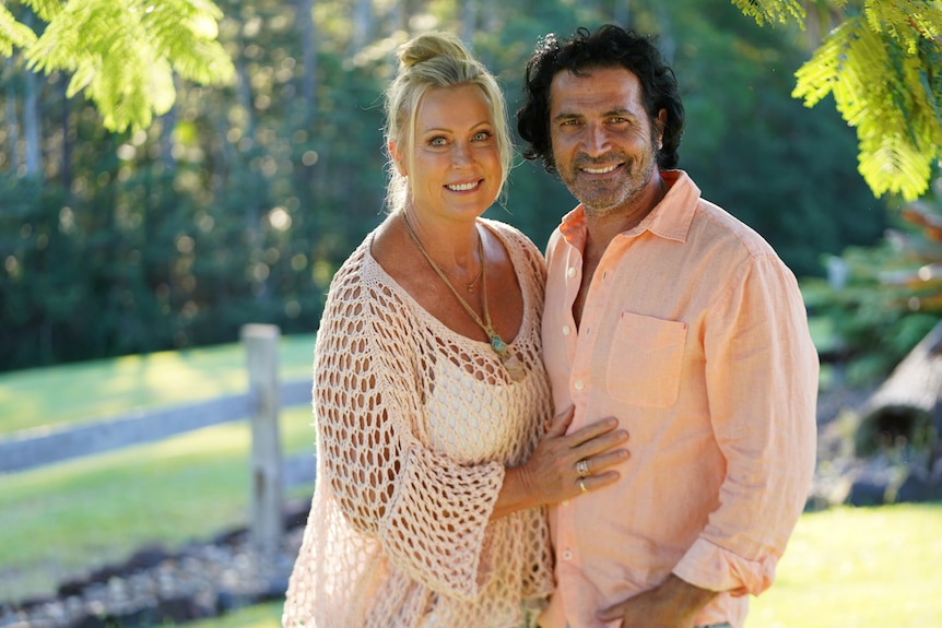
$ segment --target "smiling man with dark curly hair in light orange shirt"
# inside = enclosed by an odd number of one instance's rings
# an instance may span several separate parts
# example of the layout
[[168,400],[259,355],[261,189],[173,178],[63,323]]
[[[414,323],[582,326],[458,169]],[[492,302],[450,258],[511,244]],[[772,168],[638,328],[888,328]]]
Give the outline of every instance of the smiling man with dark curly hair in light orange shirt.
[[575,406],[570,429],[617,417],[632,443],[619,482],[597,488],[589,459],[589,489],[551,509],[557,589],[541,626],[741,628],[814,470],[819,365],[798,284],[670,169],[683,106],[647,39],[551,35],[525,92],[525,155],[580,203],[546,251],[554,402]]

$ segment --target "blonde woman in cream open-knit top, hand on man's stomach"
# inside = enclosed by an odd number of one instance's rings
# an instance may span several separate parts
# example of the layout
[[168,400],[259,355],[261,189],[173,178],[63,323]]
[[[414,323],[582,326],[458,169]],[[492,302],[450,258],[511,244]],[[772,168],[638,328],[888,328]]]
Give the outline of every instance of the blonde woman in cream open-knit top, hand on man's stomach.
[[334,276],[315,349],[318,482],[289,628],[520,625],[552,588],[542,507],[614,482],[627,455],[609,423],[551,420],[543,259],[480,217],[513,155],[496,81],[450,35],[399,60],[391,212]]

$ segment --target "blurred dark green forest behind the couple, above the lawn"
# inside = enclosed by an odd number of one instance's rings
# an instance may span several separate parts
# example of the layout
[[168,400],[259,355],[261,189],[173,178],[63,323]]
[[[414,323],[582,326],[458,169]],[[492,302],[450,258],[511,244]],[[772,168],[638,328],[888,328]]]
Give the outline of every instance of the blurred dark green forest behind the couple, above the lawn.
[[[231,342],[245,322],[315,331],[333,271],[381,218],[380,94],[396,46],[424,28],[460,33],[511,112],[542,35],[607,21],[657,35],[688,116],[680,166],[800,277],[876,246],[894,220],[894,200],[858,174],[855,130],[833,103],[791,96],[809,33],[760,27],[730,2],[217,5],[234,75],[221,86],[176,76],[176,100],[148,128],[109,131],[83,93],[67,97],[71,73],[4,60],[0,370]],[[572,205],[523,163],[492,214],[542,247]]]

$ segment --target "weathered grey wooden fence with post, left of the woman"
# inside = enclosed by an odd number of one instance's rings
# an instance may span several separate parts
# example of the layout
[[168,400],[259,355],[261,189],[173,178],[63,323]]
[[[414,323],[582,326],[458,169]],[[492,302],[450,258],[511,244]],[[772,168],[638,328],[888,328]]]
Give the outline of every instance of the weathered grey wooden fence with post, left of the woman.
[[249,531],[258,548],[274,557],[283,530],[285,485],[314,479],[310,454],[284,460],[279,436],[282,407],[310,404],[310,379],[280,383],[274,325],[242,330],[248,391],[211,401],[123,416],[75,427],[27,429],[0,438],[0,474],[26,471],[73,458],[94,455],[233,420],[251,420]]

